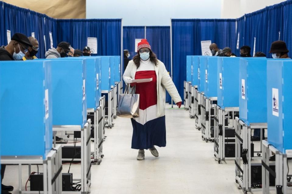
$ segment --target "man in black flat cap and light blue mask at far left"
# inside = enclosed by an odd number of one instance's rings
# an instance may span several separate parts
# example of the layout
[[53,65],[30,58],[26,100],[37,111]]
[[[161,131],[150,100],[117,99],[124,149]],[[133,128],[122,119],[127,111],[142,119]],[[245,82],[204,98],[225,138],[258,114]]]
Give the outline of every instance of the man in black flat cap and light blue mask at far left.
[[0,47],[0,61],[21,60],[29,46],[32,45],[24,34],[15,33],[7,46]]

